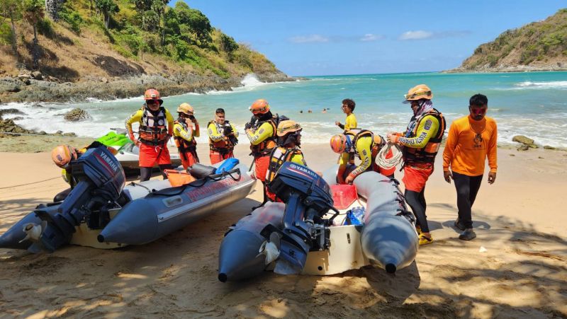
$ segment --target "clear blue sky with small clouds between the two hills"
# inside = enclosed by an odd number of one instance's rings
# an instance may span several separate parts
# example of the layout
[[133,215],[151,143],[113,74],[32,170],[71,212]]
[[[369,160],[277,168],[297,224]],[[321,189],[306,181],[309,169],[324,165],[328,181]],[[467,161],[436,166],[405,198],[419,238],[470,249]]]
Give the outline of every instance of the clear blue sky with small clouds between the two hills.
[[503,31],[567,7],[565,0],[184,1],[292,76],[451,69]]

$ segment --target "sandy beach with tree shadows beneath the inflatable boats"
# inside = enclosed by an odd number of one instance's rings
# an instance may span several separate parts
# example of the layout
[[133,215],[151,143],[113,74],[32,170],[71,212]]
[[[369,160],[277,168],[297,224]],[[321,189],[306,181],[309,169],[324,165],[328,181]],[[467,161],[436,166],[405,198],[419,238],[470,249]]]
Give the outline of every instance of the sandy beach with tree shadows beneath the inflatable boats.
[[[200,145],[208,163],[208,149]],[[337,156],[303,146],[324,170]],[[249,163],[245,145],[237,156]],[[364,267],[328,277],[266,272],[218,282],[218,248],[227,227],[262,199],[237,204],[154,243],[117,250],[68,246],[52,254],[0,250],[0,313],[6,317],[357,317],[553,318],[567,316],[567,153],[499,149],[494,185],[483,181],[473,207],[478,237],[452,228],[454,185],[440,154],[427,184],[434,236],[395,275]],[[0,233],[66,185],[50,154],[0,153]],[[396,172],[401,178],[401,173]],[[485,176],[486,180],[486,176]]]

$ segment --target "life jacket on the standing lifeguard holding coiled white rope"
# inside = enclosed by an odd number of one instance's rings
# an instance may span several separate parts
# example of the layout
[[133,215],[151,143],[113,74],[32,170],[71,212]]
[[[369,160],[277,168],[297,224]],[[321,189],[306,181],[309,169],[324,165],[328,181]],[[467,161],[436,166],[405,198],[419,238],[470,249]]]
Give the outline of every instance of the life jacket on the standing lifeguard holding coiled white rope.
[[413,127],[410,137],[417,137],[417,127],[420,127],[420,122],[426,117],[427,115],[431,115],[439,121],[439,128],[437,129],[437,133],[434,137],[431,137],[425,147],[421,149],[414,149],[411,147],[404,147],[403,148],[403,158],[405,163],[433,163],[435,161],[435,156],[437,156],[437,152],[439,151],[439,147],[441,146],[441,141],[443,139],[443,134],[445,129],[447,128],[447,123],[445,122],[445,117],[436,109],[430,110],[429,112],[423,113],[420,118],[415,123],[415,127]]

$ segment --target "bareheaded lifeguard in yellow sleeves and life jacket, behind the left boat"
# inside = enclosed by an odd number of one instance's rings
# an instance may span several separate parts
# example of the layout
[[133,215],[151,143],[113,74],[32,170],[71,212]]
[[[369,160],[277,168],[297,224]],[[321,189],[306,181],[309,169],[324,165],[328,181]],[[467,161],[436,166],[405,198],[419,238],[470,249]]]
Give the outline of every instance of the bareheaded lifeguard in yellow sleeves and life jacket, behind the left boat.
[[238,143],[238,132],[234,124],[225,120],[225,110],[215,110],[215,120],[207,125],[210,163],[215,164],[235,157],[233,151]]

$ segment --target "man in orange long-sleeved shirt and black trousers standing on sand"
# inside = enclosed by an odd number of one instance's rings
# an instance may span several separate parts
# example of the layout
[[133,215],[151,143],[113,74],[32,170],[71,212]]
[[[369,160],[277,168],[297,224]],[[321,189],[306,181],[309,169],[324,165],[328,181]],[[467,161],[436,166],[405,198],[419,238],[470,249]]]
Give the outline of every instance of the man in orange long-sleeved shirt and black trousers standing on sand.
[[[443,175],[447,182],[455,181],[456,206],[459,217],[455,227],[463,233],[462,240],[476,238],[473,231],[471,208],[478,189],[481,187],[485,158],[488,158],[488,184],[496,180],[496,122],[486,117],[488,98],[476,94],[468,102],[469,115],[455,120],[449,128],[449,135],[443,151]],[[450,170],[449,170],[450,167]]]

